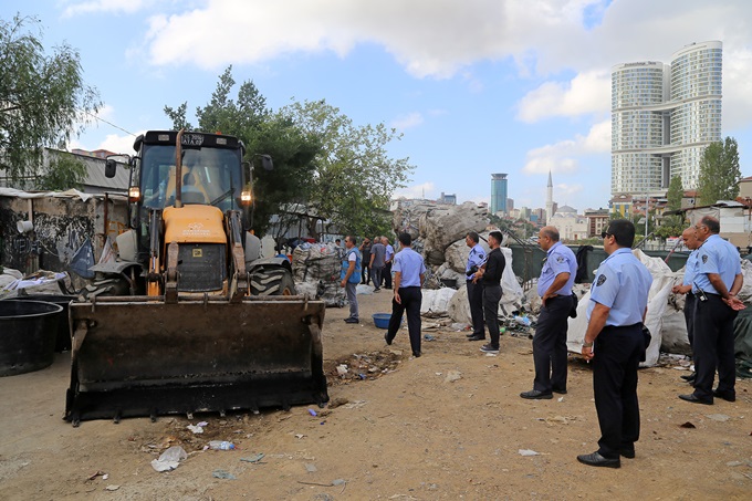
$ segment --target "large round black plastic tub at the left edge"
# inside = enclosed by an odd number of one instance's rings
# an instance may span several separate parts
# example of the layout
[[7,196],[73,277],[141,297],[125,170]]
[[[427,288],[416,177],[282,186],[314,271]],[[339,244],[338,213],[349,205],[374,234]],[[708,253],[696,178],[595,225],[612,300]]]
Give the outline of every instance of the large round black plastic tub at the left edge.
[[0,376],[52,364],[62,311],[62,306],[42,301],[0,301]]

